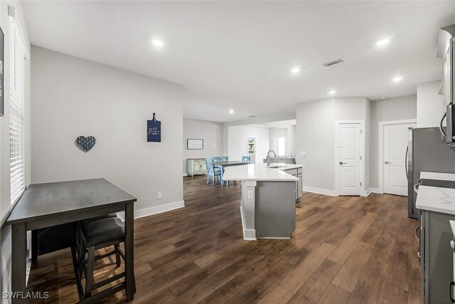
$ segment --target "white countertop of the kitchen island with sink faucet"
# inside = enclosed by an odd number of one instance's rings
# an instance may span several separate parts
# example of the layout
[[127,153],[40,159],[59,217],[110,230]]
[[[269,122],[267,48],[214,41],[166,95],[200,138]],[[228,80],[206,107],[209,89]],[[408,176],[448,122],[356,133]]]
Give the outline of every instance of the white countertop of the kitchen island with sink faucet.
[[[291,167],[292,166],[292,167]],[[289,164],[285,169],[294,169],[303,167],[301,164]],[[297,177],[283,172],[281,168],[268,168],[267,166],[257,166],[255,164],[247,164],[246,166],[226,167],[223,174],[223,179],[232,180],[252,180],[252,181],[298,181]]]

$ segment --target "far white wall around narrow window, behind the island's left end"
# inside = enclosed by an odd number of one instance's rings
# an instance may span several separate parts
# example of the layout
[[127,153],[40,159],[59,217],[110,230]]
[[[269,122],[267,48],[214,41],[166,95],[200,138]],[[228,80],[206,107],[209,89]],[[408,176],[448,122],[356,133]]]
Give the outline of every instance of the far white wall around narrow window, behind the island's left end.
[[231,160],[241,160],[248,155],[248,136],[257,137],[256,163],[262,164],[262,159],[269,151],[270,132],[268,127],[254,125],[237,125],[228,127],[228,157]]

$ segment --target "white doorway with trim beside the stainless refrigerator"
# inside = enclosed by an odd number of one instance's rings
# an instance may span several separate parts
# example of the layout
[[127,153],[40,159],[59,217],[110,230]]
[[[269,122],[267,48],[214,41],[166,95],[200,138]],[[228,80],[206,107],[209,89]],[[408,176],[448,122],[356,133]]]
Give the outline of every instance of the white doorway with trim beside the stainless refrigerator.
[[406,153],[409,128],[415,120],[380,122],[378,169],[380,192],[407,196]]

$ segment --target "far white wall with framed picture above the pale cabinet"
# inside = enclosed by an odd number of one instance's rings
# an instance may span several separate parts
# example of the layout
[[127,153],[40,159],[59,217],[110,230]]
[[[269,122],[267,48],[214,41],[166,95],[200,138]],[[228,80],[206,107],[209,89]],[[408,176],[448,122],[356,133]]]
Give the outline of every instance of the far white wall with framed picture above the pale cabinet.
[[[186,148],[188,138],[204,140],[204,149],[188,150]],[[211,147],[212,142],[215,143],[215,147]],[[183,175],[186,175],[186,159],[213,156],[223,156],[223,123],[183,119]]]

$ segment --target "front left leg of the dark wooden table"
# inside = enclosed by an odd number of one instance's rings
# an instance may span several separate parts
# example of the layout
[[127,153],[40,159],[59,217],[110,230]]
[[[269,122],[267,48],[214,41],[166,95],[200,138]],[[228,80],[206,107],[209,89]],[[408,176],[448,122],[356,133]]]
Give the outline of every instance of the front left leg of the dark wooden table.
[[26,224],[18,223],[11,226],[11,291],[18,293],[13,303],[25,303],[21,293],[26,292],[26,261],[27,261],[27,233]]

